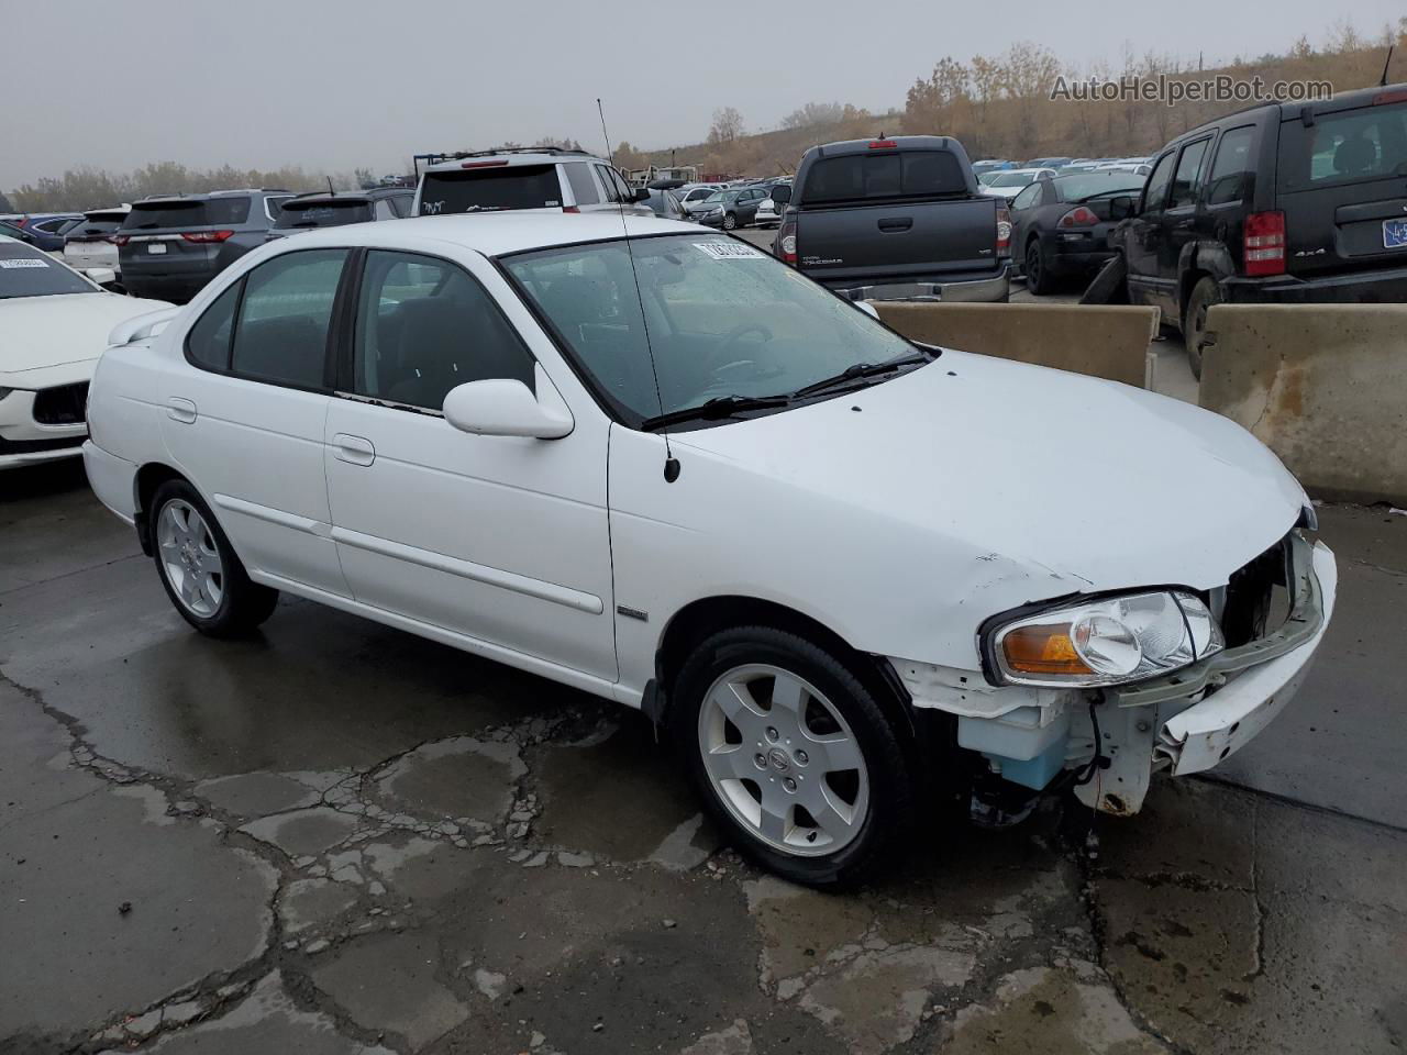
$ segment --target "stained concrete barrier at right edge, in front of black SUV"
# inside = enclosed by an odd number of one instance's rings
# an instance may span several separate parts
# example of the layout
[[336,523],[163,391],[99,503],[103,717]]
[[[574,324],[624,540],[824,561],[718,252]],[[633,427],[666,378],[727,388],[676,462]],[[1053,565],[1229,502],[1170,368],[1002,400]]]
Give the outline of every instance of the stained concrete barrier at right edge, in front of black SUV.
[[1316,498],[1407,505],[1407,304],[1218,304],[1200,402]]

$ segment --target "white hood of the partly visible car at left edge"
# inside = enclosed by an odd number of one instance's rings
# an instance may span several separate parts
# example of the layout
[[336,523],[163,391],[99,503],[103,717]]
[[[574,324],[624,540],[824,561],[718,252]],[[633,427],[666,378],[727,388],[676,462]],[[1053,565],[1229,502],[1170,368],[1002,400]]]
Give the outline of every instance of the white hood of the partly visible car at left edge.
[[62,384],[48,380],[51,370],[93,363],[103,354],[107,335],[118,322],[169,307],[165,301],[115,293],[0,301],[0,385],[38,387],[35,383],[41,380]]

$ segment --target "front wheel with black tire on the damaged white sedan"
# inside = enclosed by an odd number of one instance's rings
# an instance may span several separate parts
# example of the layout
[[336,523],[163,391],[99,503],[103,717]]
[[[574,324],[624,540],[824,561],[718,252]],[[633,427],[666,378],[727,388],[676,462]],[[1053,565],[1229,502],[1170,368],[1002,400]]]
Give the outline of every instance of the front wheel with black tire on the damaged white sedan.
[[772,627],[723,630],[694,650],[671,696],[705,807],[761,867],[848,886],[909,829],[900,734],[847,660]]

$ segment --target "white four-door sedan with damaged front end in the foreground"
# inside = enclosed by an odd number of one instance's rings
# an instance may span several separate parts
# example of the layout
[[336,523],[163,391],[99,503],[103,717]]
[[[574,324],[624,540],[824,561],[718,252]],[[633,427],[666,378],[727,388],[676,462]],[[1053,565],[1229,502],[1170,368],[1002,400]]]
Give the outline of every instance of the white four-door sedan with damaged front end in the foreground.
[[114,333],[84,454],[191,626],[287,591],[642,708],[795,881],[944,803],[1137,812],[1283,709],[1332,609],[1240,426],[910,343],[701,226],[329,228],[172,314]]

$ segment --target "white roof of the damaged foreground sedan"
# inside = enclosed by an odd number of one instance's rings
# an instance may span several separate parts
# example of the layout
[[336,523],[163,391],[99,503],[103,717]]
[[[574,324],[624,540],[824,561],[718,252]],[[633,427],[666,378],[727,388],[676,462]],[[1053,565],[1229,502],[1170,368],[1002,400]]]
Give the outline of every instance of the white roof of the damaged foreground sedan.
[[435,241],[473,249],[484,256],[504,256],[528,249],[549,249],[581,242],[606,242],[629,232],[632,238],[698,234],[716,239],[718,232],[695,224],[619,212],[474,212],[454,217],[409,217],[394,224],[346,224],[298,235],[297,248],[312,245],[400,249],[402,243]]

